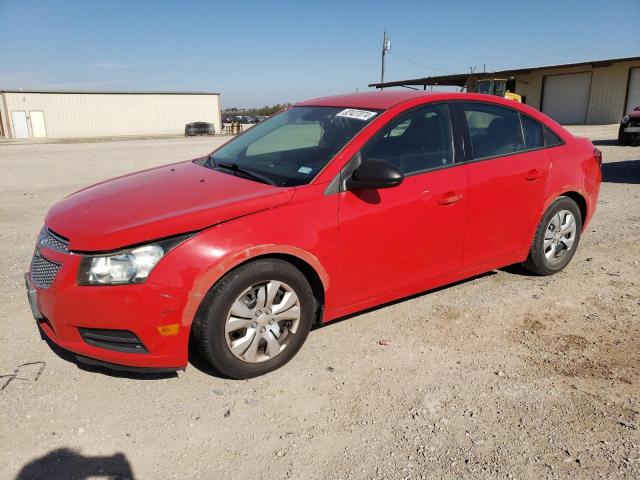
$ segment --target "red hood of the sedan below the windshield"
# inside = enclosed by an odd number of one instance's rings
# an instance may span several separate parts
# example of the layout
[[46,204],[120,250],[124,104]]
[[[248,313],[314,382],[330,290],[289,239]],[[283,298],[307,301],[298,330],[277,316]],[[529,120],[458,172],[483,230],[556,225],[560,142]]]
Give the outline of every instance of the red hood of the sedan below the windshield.
[[79,190],[54,205],[45,223],[71,250],[108,251],[273,208],[293,192],[188,161]]

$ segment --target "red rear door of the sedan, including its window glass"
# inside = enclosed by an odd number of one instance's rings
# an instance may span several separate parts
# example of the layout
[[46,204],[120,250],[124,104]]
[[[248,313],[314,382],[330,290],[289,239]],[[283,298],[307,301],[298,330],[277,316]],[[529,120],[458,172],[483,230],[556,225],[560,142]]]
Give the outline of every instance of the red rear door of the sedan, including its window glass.
[[471,268],[522,248],[539,221],[551,161],[543,127],[534,119],[484,102],[464,102],[459,108],[469,162],[463,263]]

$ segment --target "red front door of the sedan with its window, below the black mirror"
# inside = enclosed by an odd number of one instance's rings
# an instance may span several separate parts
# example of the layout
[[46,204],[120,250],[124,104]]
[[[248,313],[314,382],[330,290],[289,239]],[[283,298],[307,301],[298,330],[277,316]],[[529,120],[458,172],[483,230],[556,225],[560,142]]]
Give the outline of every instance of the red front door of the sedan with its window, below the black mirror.
[[417,107],[391,120],[359,155],[405,174],[394,188],[340,195],[340,291],[353,305],[460,268],[467,179],[454,164],[446,104]]

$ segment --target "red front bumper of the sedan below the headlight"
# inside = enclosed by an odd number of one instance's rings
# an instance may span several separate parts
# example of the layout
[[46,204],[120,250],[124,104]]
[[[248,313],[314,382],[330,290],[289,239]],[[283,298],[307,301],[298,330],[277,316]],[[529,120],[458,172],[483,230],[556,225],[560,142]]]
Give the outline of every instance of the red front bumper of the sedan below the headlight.
[[[33,316],[53,343],[103,366],[156,371],[186,367],[191,324],[184,315],[188,292],[149,281],[138,285],[79,286],[79,255],[47,248],[39,253],[62,265],[48,288],[39,287],[31,272],[25,275]],[[178,328],[169,329],[169,335],[166,330],[164,335],[160,333],[159,327],[176,324]],[[144,349],[132,353],[91,345],[80,329],[129,331]]]

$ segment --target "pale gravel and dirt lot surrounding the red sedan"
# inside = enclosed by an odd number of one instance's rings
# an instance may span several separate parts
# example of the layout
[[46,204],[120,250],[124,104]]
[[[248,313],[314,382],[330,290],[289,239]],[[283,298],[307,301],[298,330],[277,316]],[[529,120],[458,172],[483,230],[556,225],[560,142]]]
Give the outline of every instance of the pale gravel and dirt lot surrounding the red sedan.
[[330,324],[250,381],[80,369],[40,339],[22,279],[54,202],[221,139],[0,145],[0,374],[42,362],[0,392],[0,478],[640,478],[640,147],[574,130],[606,163],[566,271]]

